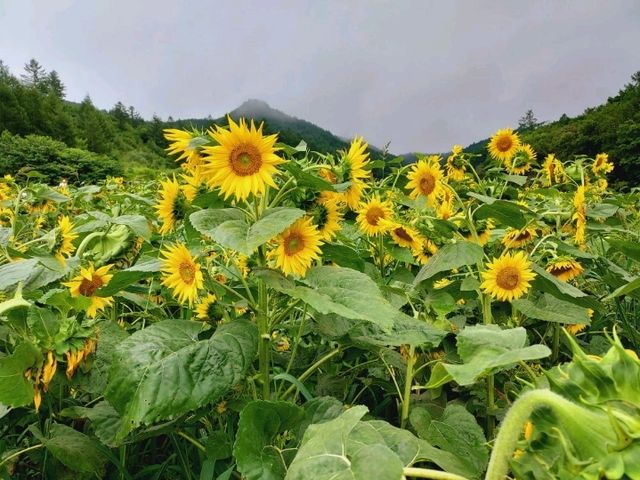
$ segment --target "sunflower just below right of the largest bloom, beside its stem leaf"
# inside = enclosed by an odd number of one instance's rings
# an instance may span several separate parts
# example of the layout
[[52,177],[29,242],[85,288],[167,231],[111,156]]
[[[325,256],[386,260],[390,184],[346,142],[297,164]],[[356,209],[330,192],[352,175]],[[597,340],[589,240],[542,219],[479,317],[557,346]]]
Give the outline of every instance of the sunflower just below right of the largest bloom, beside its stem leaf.
[[285,275],[304,277],[314,260],[320,258],[322,239],[311,219],[303,217],[276,237],[270,257]]

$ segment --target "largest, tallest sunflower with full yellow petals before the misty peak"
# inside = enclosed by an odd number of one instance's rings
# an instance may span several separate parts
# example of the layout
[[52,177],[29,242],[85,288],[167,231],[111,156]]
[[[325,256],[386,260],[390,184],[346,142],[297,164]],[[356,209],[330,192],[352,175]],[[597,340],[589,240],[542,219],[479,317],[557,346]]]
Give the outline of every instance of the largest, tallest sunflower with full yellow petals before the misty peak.
[[263,124],[256,128],[244,119],[235,123],[227,117],[229,129],[216,126],[209,135],[218,143],[204,147],[203,172],[212,185],[220,187],[225,200],[231,195],[236,200],[246,200],[249,195],[264,194],[267,186],[277,188],[273,175],[276,166],[284,163],[275,152],[277,135],[262,135]]

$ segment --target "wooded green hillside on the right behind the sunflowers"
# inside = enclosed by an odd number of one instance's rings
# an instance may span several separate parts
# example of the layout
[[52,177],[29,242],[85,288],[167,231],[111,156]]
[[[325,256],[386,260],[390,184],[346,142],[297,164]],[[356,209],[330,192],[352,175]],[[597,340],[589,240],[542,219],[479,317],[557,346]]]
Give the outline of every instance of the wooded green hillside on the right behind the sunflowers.
[[[519,131],[522,140],[544,159],[549,153],[566,161],[575,155],[590,157],[605,152],[616,165],[610,178],[617,188],[640,186],[640,72],[618,95],[581,115],[562,115],[558,120]],[[489,139],[466,150],[486,154]]]

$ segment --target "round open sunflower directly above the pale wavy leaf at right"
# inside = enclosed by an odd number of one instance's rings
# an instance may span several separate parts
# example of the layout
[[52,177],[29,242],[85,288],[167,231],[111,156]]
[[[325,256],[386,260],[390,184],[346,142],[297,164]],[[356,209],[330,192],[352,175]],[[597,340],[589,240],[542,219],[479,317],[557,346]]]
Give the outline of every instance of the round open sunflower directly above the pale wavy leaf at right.
[[510,302],[527,293],[535,276],[524,252],[506,253],[487,265],[480,287],[493,298]]

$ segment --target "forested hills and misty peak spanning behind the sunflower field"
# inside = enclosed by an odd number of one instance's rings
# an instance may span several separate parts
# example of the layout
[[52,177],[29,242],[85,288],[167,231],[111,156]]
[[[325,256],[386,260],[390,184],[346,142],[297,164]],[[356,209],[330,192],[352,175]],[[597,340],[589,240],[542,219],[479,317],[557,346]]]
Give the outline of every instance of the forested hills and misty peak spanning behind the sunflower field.
[[[230,112],[233,118],[265,122],[266,133],[297,145],[305,139],[311,150],[334,152],[347,141],[310,122],[289,116],[260,100],[249,100]],[[175,164],[164,153],[165,128],[206,129],[226,123],[225,117],[166,121],[145,120],[132,106],[116,103],[105,111],[89,96],[80,103],[65,99],[65,86],[55,70],[47,72],[32,59],[17,77],[0,60],[0,173],[26,175],[30,170],[57,183],[92,182],[106,175],[149,175]],[[640,72],[604,105],[588,108],[575,118],[563,115],[539,123],[529,111],[518,131],[542,159],[555,153],[562,160],[577,154],[606,152],[616,164],[612,180],[619,188],[640,185]],[[486,155],[488,139],[467,147]],[[372,147],[372,156],[382,151]],[[389,156],[388,158],[392,158]],[[408,154],[406,161],[415,158]]]

